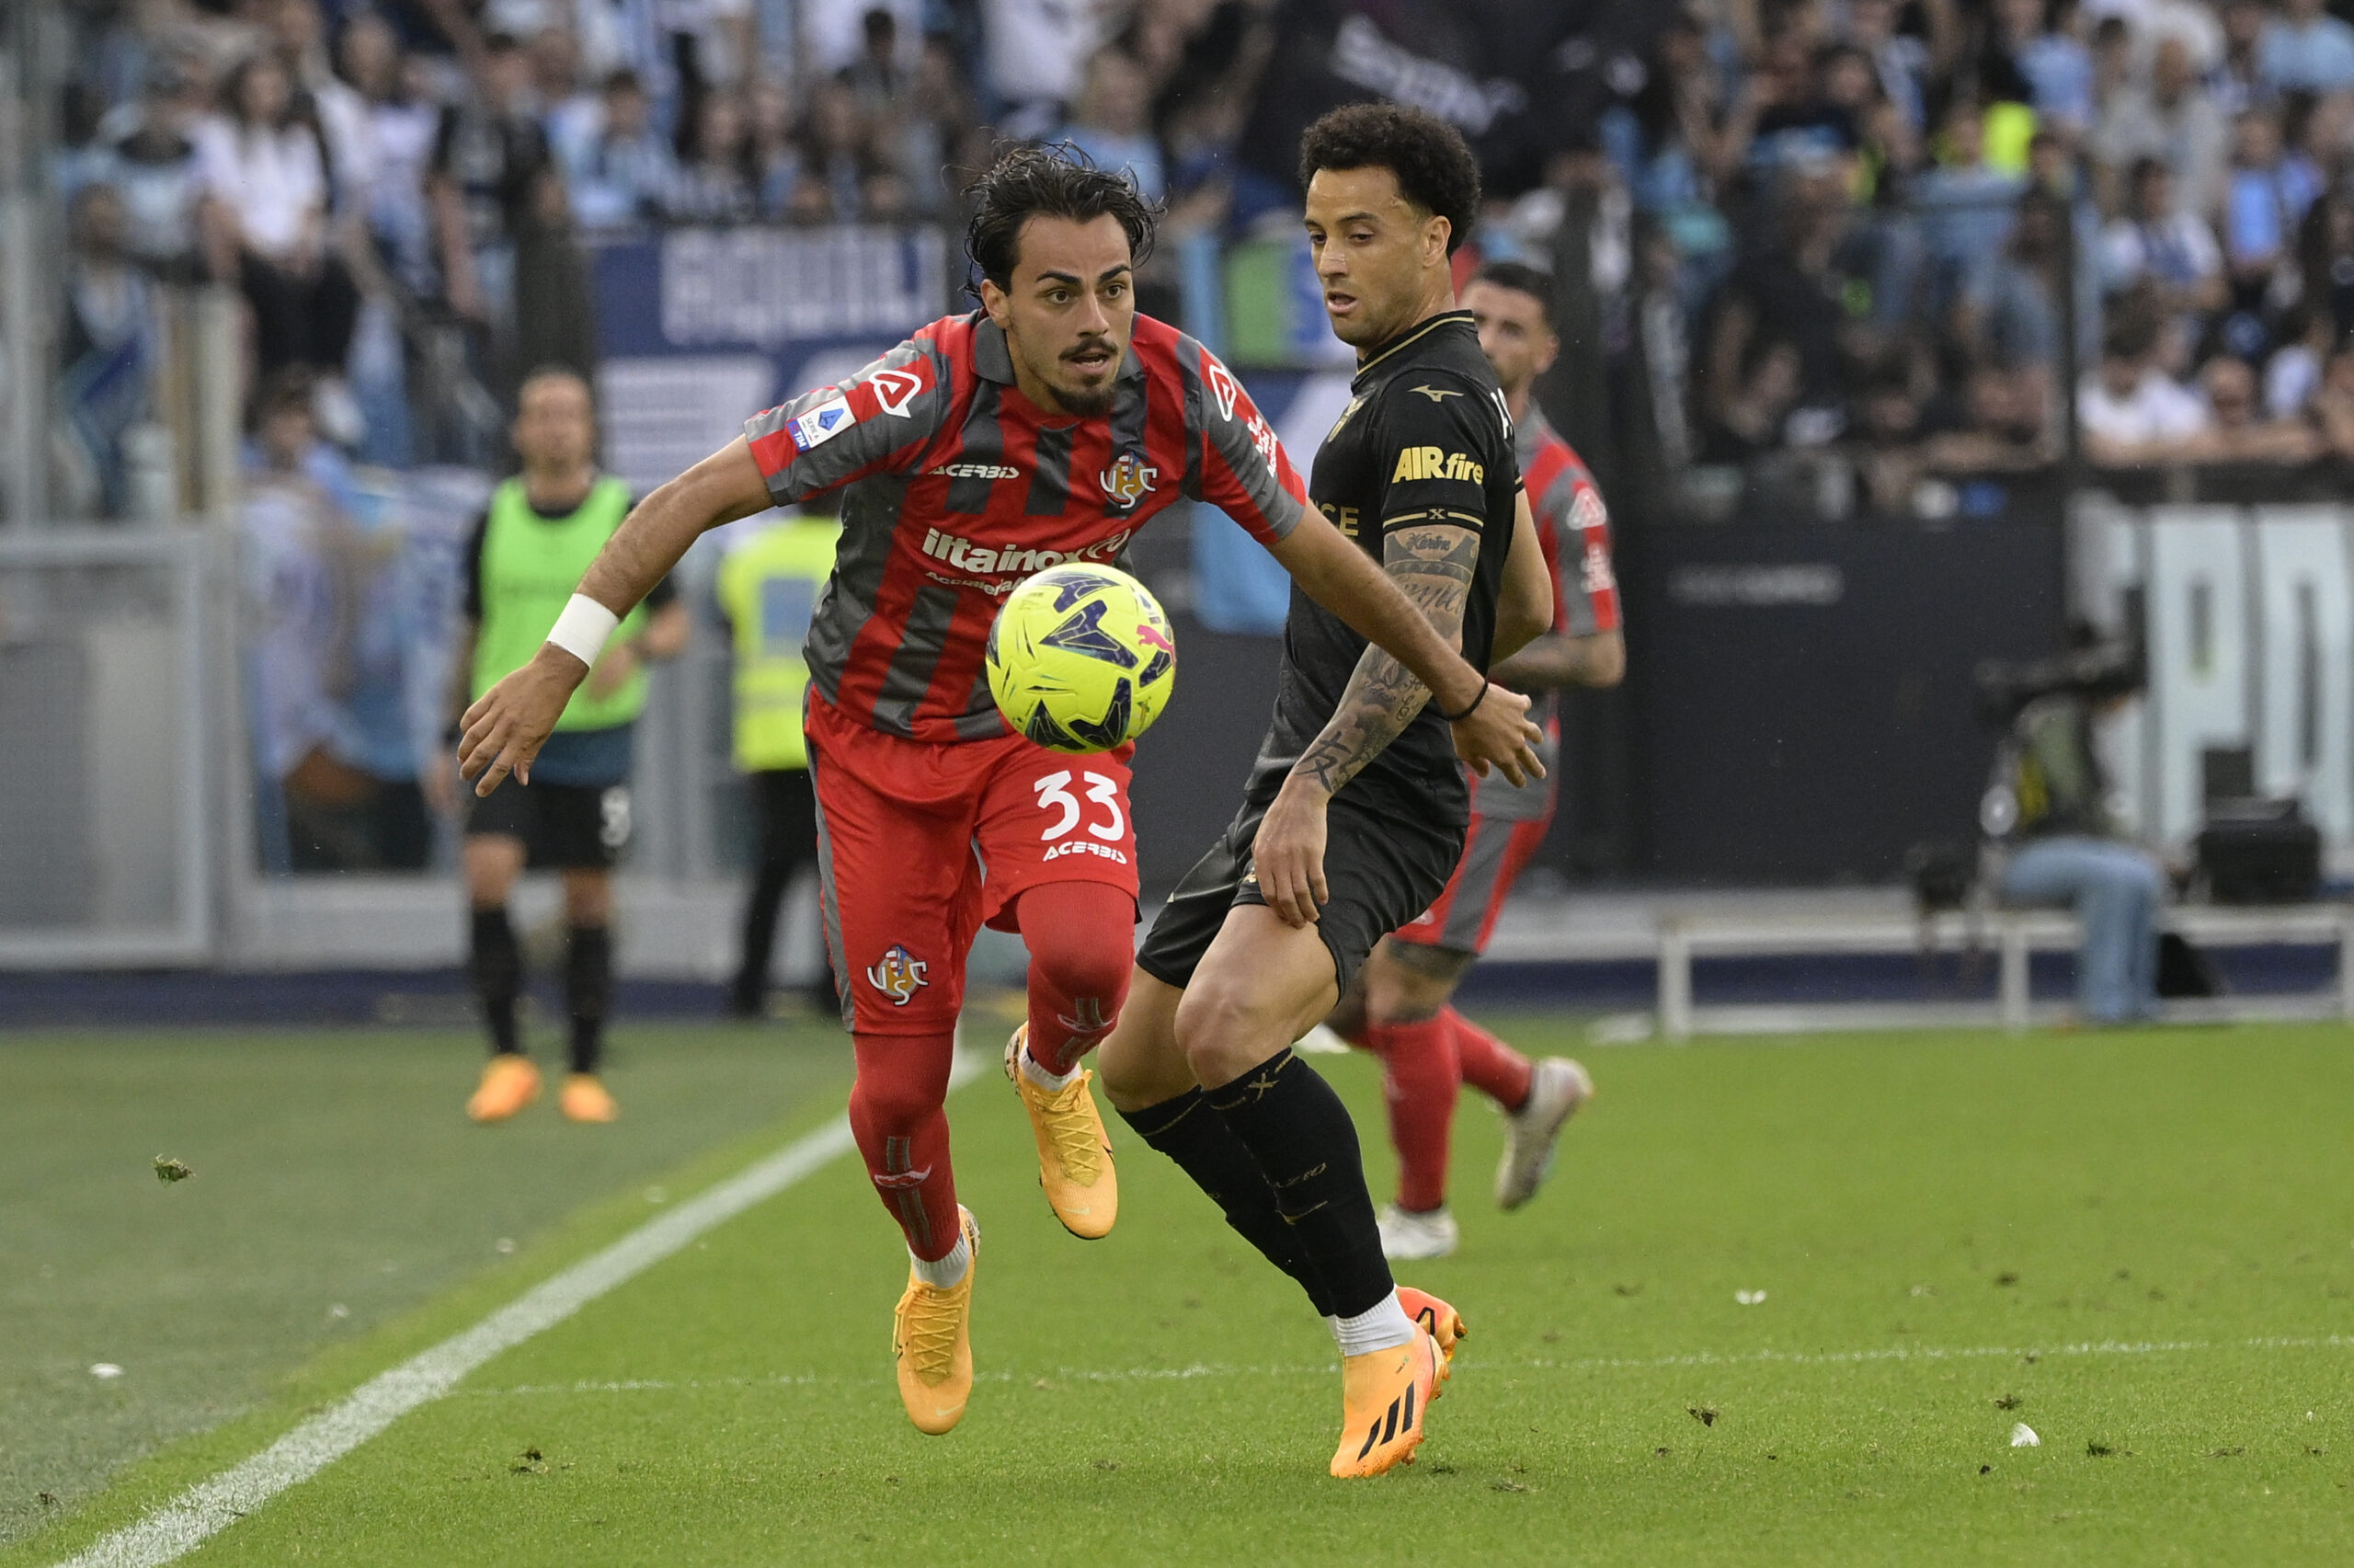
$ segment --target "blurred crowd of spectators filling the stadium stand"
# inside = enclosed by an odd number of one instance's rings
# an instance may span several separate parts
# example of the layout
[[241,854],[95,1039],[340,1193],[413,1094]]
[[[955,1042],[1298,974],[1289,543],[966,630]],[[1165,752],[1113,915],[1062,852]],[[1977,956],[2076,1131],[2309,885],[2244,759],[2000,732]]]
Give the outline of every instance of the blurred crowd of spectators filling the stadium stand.
[[[252,384],[313,372],[327,436],[403,466],[435,445],[400,398],[419,313],[506,384],[588,363],[584,238],[953,224],[946,172],[1008,137],[1132,170],[1182,231],[1292,231],[1262,99],[1295,89],[1311,12],[1377,9],[82,7],[71,424],[115,511],[151,285],[214,278],[247,301]],[[1335,59],[1396,52],[1358,21]],[[2326,0],[1690,0],[1610,38],[1556,49],[1476,254],[1575,273],[1570,337],[1641,393],[1660,469],[1838,452],[1900,504],[2050,469],[2069,374],[2100,466],[2354,457],[2354,26]]]

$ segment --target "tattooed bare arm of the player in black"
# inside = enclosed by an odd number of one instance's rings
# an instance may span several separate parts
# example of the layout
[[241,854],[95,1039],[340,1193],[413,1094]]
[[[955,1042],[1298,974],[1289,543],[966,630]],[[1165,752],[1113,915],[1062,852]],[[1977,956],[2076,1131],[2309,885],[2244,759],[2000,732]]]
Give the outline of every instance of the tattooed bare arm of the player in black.
[[[1346,542],[1342,546],[1363,558],[1356,546]],[[1415,605],[1415,619],[1431,638],[1455,652],[1462,645],[1471,574],[1478,570],[1478,534],[1455,523],[1396,527],[1384,539],[1382,556],[1384,570],[1377,574]],[[1521,704],[1518,711],[1528,711],[1525,697],[1504,695]],[[1431,690],[1396,655],[1368,647],[1332,718],[1292,763],[1252,843],[1259,895],[1288,925],[1311,923],[1318,904],[1330,897],[1323,878],[1325,803],[1379,756],[1382,746],[1398,739],[1429,699]]]

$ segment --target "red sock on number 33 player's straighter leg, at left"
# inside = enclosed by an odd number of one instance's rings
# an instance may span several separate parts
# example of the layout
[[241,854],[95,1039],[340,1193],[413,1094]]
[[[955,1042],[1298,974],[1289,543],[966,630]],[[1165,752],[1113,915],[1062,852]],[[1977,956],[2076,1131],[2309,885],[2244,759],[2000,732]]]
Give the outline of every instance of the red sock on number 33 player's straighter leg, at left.
[[916,1257],[956,1250],[956,1175],[949,1170],[949,1062],[956,1036],[862,1034],[850,1085],[850,1132],[866,1175]]

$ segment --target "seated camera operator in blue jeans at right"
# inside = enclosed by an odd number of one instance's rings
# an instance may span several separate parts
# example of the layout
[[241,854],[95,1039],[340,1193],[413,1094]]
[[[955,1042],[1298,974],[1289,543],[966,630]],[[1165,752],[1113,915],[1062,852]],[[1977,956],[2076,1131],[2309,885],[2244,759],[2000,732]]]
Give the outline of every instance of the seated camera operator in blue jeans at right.
[[1980,671],[1982,699],[2008,716],[1980,808],[1987,885],[2006,904],[2076,909],[2076,1012],[2086,1024],[2156,1015],[2166,866],[2109,817],[2109,779],[2093,744],[2093,720],[2133,702],[2142,680],[2140,650],[2116,643]]

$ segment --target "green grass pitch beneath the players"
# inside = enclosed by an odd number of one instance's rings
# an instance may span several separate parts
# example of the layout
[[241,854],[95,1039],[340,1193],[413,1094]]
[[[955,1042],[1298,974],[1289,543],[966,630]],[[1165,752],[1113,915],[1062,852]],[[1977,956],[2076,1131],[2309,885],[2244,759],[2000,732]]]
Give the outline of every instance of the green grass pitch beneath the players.
[[[1568,1024],[1504,1024],[1530,1048],[1577,1045]],[[814,1034],[638,1029],[629,1045],[619,1128],[563,1128],[541,1107],[476,1130],[454,1125],[459,1036],[0,1043],[0,1224],[45,1222],[21,1257],[129,1293],[118,1311],[101,1290],[26,1285],[14,1264],[0,1281],[16,1326],[0,1342],[0,1474],[73,1481],[56,1504],[0,1500],[19,1535],[0,1568],[52,1563],[264,1448],[638,1224],[647,1184],[683,1194],[822,1123],[845,1081],[840,1045]],[[106,1074],[106,1052],[172,1092]],[[1518,1215],[1488,1203],[1497,1125],[1467,1099],[1462,1253],[1401,1274],[1455,1300],[1471,1340],[1422,1462],[1396,1476],[1323,1476],[1330,1337],[1121,1128],[1121,1229],[1064,1236],[991,1071],[951,1099],[982,1220],[982,1380],[949,1439],[899,1415],[887,1314],[904,1253],[845,1158],[188,1561],[2354,1561],[2347,1031],[1584,1057],[1601,1099]],[[1356,1107],[1387,1191],[1377,1074],[1316,1067]],[[19,1090],[59,1071],[82,1074],[78,1104],[111,1109],[85,1128],[38,1095],[28,1109]],[[299,1125],[238,1121],[273,1095]],[[104,1201],[101,1154],[127,1163],[104,1172],[122,1182]],[[195,1180],[158,1184],[153,1154],[188,1158]],[[344,1241],[322,1257],[282,1243],[334,1231],[334,1210]],[[520,1248],[490,1255],[485,1234]],[[346,1285],[315,1276],[360,1278],[379,1255],[412,1260],[381,1278],[431,1278],[322,1326],[315,1302]],[[240,1285],[252,1271],[268,1283]],[[202,1288],[242,1307],[217,1311]],[[299,1311],[257,1326],[271,1297]],[[132,1347],[125,1377],[89,1380],[106,1335],[75,1316]],[[141,1333],[221,1347],[219,1424],[195,1431],[193,1368],[174,1373],[177,1403],[141,1403]],[[73,1410],[108,1401],[129,1415]],[[2017,1422],[2039,1448],[2013,1448]],[[87,1455],[52,1462],[52,1431]],[[106,1479],[179,1431],[193,1436]]]

